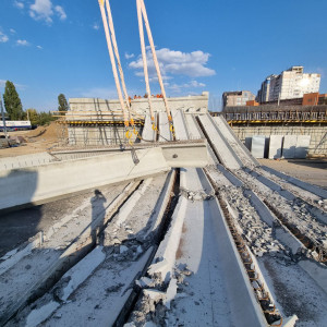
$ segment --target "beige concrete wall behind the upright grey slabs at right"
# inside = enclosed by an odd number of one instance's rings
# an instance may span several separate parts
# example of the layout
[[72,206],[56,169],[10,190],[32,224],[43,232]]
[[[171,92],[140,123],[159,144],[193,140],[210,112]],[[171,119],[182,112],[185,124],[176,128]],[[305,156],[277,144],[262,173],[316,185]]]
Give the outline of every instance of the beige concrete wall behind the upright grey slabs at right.
[[[254,135],[311,135],[308,155],[327,156],[327,126],[326,125],[233,125],[237,136],[245,143],[246,137]],[[326,138],[324,136],[326,135]]]

